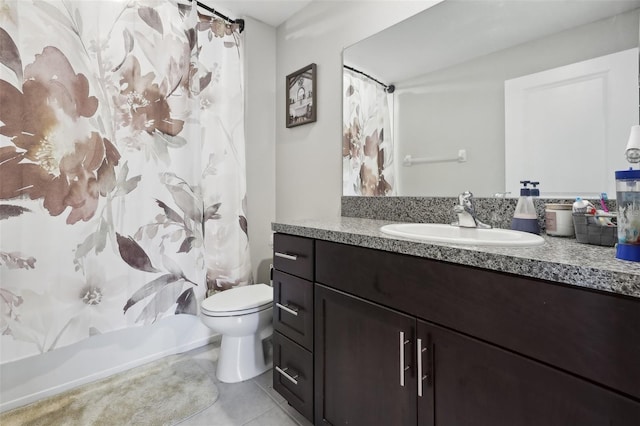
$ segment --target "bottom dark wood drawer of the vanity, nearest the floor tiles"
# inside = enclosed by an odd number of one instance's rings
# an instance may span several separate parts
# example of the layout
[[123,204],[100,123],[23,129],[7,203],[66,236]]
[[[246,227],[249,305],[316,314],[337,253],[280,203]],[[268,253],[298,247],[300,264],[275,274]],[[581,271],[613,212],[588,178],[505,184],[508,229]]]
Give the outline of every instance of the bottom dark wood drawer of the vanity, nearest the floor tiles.
[[313,422],[313,355],[278,332],[273,333],[273,388]]

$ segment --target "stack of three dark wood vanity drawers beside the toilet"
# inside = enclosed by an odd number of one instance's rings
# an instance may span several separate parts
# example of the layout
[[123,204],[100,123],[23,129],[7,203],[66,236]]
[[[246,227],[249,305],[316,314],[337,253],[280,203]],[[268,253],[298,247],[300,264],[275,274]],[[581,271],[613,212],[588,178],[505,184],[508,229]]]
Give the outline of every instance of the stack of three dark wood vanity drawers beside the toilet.
[[273,388],[313,420],[314,241],[274,235]]

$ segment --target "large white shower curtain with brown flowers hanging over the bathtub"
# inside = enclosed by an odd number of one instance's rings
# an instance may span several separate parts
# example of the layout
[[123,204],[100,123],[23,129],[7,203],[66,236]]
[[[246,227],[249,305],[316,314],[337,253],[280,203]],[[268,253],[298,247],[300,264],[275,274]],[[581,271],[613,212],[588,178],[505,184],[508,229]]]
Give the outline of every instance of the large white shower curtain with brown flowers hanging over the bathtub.
[[242,37],[165,0],[0,9],[0,362],[250,283]]

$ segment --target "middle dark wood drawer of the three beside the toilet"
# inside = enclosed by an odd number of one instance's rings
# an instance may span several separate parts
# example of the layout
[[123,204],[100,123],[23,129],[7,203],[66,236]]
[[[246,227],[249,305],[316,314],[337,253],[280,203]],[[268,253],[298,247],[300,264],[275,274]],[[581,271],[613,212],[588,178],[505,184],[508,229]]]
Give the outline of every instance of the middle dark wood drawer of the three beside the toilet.
[[313,350],[313,284],[273,271],[273,327],[299,345]]

